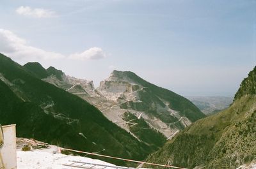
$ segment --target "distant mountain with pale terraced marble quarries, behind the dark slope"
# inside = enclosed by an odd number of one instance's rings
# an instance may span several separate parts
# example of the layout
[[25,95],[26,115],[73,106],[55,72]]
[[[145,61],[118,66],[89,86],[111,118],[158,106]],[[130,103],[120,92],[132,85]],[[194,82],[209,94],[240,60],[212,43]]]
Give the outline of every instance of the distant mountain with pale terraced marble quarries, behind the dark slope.
[[[131,71],[113,71],[109,78],[100,82],[100,86],[95,89],[90,80],[70,77],[53,67],[45,70],[37,62],[29,62],[24,67],[45,82],[88,101],[109,121],[147,144],[152,143],[151,139],[158,139],[160,136],[160,145],[163,145],[164,137],[170,138],[192,122],[205,117],[188,99],[150,84]],[[142,117],[140,121],[147,124],[147,129],[141,128],[136,119],[125,121],[125,113],[134,114],[137,118]],[[143,139],[148,137],[145,136],[145,131],[152,133],[150,139]]]

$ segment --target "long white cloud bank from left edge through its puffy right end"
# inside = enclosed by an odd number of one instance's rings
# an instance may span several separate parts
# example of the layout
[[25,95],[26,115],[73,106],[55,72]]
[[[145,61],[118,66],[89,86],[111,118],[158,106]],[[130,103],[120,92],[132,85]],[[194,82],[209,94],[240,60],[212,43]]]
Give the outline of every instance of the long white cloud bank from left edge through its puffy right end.
[[68,57],[58,52],[49,52],[28,45],[26,40],[20,38],[12,31],[0,29],[0,52],[12,57],[15,61],[39,61],[49,59],[101,59],[106,57],[106,54],[99,47],[89,48],[81,54],[71,54]]

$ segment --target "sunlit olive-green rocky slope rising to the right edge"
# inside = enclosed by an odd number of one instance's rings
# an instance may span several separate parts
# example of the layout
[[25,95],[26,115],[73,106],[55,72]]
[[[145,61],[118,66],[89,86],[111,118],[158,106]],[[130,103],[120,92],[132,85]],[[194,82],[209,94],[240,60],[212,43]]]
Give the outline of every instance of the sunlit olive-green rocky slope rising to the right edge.
[[236,168],[256,159],[255,68],[245,78],[234,103],[196,121],[148,161],[194,168]]

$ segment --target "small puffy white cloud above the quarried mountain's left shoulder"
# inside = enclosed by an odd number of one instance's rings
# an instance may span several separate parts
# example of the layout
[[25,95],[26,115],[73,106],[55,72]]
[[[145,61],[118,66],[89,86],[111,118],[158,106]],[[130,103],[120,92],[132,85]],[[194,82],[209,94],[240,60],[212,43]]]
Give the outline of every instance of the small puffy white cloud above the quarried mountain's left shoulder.
[[106,54],[103,52],[102,48],[92,47],[88,50],[85,50],[82,53],[71,54],[70,59],[84,61],[86,59],[102,59],[106,57]]

